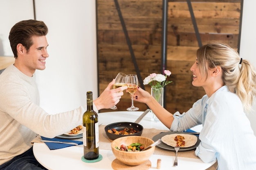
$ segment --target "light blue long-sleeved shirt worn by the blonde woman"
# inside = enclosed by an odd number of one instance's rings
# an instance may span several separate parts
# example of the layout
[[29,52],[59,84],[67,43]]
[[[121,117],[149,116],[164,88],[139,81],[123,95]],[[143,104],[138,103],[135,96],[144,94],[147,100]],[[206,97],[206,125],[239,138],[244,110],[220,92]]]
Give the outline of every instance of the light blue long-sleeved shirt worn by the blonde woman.
[[186,113],[176,112],[171,131],[202,124],[195,155],[204,162],[218,160],[218,170],[256,170],[256,136],[238,96],[227,86],[210,98],[204,95]]

